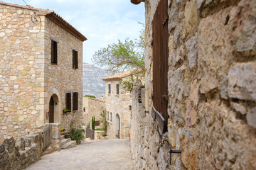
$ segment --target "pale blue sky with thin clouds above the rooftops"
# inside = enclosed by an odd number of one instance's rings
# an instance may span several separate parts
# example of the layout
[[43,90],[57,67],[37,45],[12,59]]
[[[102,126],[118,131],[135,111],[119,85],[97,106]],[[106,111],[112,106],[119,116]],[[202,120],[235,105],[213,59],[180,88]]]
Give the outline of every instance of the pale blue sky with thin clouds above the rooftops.
[[[26,5],[23,0],[1,0]],[[144,3],[134,5],[130,0],[25,0],[35,8],[48,8],[85,35],[83,62],[92,64],[97,50],[107,45],[139,37],[144,23]]]

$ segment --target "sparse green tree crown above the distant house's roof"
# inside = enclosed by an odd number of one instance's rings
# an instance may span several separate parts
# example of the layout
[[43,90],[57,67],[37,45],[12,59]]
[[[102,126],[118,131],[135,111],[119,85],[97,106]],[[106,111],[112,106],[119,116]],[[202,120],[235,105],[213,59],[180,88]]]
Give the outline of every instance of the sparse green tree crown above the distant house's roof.
[[[142,26],[144,26],[143,23]],[[107,47],[101,48],[92,57],[92,62],[100,67],[107,67],[112,72],[123,72],[128,69],[136,69],[144,75],[144,27],[140,32],[139,40],[124,42],[118,40]]]

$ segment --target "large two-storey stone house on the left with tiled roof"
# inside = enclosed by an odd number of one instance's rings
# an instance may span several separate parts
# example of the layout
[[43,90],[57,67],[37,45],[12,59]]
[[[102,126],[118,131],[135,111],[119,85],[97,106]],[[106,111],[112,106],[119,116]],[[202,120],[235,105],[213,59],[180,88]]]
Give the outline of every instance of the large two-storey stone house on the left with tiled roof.
[[0,28],[0,142],[45,123],[82,125],[85,36],[54,11],[3,1]]

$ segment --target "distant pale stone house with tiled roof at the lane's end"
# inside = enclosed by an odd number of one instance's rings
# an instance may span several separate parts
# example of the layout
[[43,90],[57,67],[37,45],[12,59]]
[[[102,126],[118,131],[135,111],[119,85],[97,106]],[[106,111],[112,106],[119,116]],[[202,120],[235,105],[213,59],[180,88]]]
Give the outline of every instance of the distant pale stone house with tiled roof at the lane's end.
[[121,81],[130,79],[133,70],[105,77],[105,102],[107,110],[107,135],[110,138],[129,139],[132,94],[122,89]]

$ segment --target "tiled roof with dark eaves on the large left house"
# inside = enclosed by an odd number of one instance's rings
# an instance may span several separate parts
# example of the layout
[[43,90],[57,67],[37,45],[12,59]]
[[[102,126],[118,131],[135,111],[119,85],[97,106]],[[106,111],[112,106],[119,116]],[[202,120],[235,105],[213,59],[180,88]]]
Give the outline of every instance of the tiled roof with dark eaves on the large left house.
[[51,21],[55,22],[58,24],[58,26],[62,27],[63,29],[67,30],[69,33],[74,35],[76,38],[85,41],[87,38],[85,38],[85,35],[82,35],[77,29],[75,29],[70,23],[65,21],[61,16],[59,16],[57,13],[55,13],[52,10],[49,9],[42,9],[42,8],[34,8],[33,6],[21,6],[18,4],[11,4],[11,3],[6,3],[4,1],[0,1],[0,4],[5,5],[5,6],[13,6],[17,8],[25,8],[28,10],[35,11],[38,16],[46,16],[49,18]]

